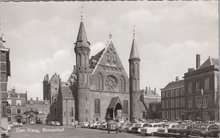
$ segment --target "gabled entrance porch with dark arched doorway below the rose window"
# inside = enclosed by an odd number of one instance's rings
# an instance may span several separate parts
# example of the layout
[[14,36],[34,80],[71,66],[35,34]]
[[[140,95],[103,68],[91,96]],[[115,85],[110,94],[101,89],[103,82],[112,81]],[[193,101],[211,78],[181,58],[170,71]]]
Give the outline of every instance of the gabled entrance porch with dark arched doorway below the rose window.
[[121,119],[122,118],[122,104],[119,97],[114,97],[111,99],[109,106],[106,111],[107,120]]

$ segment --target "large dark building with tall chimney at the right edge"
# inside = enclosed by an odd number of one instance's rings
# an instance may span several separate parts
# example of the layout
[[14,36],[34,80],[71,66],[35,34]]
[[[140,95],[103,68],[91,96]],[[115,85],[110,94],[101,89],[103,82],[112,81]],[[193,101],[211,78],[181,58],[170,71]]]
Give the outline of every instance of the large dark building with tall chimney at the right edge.
[[184,74],[187,118],[190,120],[219,120],[219,61],[209,57],[196,69]]

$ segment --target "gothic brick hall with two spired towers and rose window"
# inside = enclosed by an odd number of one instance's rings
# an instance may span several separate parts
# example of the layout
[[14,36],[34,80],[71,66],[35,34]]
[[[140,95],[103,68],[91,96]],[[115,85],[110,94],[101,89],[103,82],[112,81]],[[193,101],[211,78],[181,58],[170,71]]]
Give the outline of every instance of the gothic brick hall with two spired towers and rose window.
[[[50,99],[51,120],[71,124],[78,120],[142,119],[145,106],[140,98],[140,58],[133,37],[129,77],[112,40],[99,53],[90,55],[84,23],[80,22],[75,43],[76,65],[67,82],[57,79],[54,94],[48,75],[43,81],[44,99]],[[58,86],[58,87],[57,87]]]

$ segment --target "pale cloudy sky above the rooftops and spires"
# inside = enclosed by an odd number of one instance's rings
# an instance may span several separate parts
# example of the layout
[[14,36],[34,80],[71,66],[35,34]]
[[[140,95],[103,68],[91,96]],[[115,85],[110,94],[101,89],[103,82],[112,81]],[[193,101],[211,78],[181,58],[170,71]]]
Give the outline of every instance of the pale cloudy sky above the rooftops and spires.
[[217,1],[1,3],[2,32],[11,49],[8,89],[43,97],[45,74],[66,81],[75,65],[80,7],[94,55],[109,40],[128,73],[133,25],[141,58],[141,88],[165,87],[201,63],[218,57]]

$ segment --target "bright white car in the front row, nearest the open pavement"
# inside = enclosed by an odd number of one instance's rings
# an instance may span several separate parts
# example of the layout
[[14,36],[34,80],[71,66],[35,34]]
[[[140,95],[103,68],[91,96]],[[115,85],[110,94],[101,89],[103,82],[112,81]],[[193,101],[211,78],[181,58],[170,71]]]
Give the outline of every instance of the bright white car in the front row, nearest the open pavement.
[[154,135],[160,128],[163,128],[162,123],[150,123],[146,127],[141,128],[141,134]]

